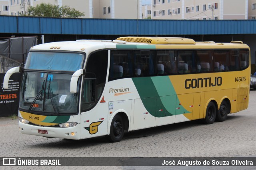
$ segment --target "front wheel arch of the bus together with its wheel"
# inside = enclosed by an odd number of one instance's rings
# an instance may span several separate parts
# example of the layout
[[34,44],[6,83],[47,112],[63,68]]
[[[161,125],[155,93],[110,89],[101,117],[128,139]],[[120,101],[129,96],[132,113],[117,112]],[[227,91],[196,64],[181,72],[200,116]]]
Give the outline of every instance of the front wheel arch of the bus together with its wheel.
[[124,130],[129,129],[129,119],[126,113],[119,112],[109,121],[106,138],[109,142],[119,142],[124,136]]

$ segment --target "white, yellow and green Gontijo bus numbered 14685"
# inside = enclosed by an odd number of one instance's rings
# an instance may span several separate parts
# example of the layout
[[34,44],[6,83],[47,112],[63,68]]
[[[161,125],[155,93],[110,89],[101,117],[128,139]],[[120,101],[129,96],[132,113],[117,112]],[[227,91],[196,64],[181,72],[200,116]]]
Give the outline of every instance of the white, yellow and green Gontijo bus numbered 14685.
[[122,37],[31,47],[21,71],[24,134],[84,139],[202,119],[248,107],[250,49],[243,42]]

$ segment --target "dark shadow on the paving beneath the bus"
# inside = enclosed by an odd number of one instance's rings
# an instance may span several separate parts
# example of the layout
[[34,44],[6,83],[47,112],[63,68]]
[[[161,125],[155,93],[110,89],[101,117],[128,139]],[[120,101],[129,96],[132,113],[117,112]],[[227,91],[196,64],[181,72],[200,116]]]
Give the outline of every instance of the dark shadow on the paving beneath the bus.
[[[230,114],[228,115],[226,121],[232,121],[233,119],[239,119],[239,115]],[[215,122],[216,123],[224,123],[224,122]],[[134,130],[131,132],[126,132],[124,134],[124,137],[122,140],[130,140],[134,138],[146,138],[146,137],[152,137],[157,136],[162,133],[166,132],[174,132],[176,130],[186,130],[188,128],[193,127],[202,127],[204,128],[205,125],[201,123],[200,120],[195,121],[187,121],[182,123],[175,123],[170,125],[162,125],[159,127],[151,127],[146,129],[140,129],[140,130]],[[210,126],[210,125],[209,125]],[[43,140],[42,140],[43,139]],[[48,141],[46,141],[48,140]],[[121,142],[122,142],[121,140]],[[70,139],[59,139],[59,138],[44,138],[40,137],[40,142],[36,142],[36,144],[30,145],[30,147],[41,147],[41,148],[85,148],[85,147],[91,147],[91,146],[97,146],[101,144],[113,144],[109,143],[108,140],[105,138],[105,136],[99,136],[94,138],[88,138],[88,139],[81,139],[81,140],[70,140]]]

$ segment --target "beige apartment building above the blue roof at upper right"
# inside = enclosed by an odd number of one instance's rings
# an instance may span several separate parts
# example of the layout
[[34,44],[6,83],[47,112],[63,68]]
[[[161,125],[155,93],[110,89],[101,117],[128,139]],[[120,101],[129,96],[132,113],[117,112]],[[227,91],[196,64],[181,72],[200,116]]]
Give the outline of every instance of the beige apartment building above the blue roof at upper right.
[[256,0],[152,0],[151,18],[164,20],[247,20],[248,9],[252,8],[248,1],[251,1],[251,4],[256,2]]

